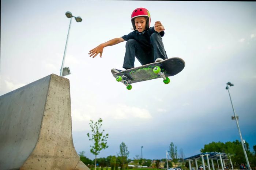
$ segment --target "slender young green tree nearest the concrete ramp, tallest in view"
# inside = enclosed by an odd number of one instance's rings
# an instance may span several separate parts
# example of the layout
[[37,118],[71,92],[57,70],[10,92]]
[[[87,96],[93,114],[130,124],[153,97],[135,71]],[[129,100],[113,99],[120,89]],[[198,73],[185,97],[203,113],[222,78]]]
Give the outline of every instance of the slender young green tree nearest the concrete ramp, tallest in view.
[[93,142],[93,146],[90,146],[90,152],[95,155],[95,169],[96,170],[96,164],[97,164],[97,155],[99,155],[99,152],[103,149],[108,148],[107,146],[107,139],[109,134],[103,135],[104,129],[100,132],[101,126],[102,126],[102,119],[99,118],[97,122],[93,122],[90,120],[90,127],[91,127],[91,138],[90,134],[87,133],[87,136],[89,137],[89,140]]

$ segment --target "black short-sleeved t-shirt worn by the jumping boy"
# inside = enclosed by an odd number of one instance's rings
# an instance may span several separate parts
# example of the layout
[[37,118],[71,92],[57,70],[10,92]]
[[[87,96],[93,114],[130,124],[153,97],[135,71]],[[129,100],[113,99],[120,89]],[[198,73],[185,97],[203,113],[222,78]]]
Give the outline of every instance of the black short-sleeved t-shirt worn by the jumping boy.
[[[140,46],[143,49],[150,49],[150,36],[153,33],[157,33],[157,31],[154,30],[154,27],[151,27],[150,29],[143,31],[142,33],[137,30],[132,31],[131,33],[124,35],[121,38],[123,38],[125,41],[128,41],[129,39],[135,39],[139,42]],[[161,31],[159,34],[161,35],[161,37],[163,37],[163,35],[165,35],[165,32]]]

